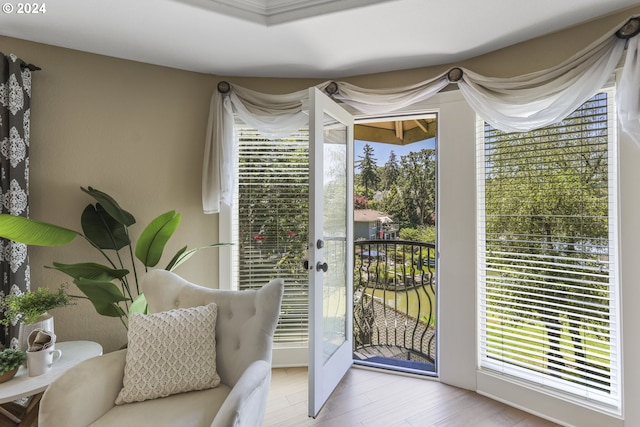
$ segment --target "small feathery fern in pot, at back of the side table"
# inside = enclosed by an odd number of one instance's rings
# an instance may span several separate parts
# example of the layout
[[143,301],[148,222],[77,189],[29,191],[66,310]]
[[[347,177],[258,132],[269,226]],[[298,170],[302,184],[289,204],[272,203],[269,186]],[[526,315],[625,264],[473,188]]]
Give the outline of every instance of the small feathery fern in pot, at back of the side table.
[[27,337],[32,330],[41,328],[54,332],[53,316],[49,310],[71,304],[72,297],[64,285],[55,292],[40,287],[22,294],[9,294],[0,300],[0,310],[4,312],[0,324],[10,326],[19,323],[18,348],[26,350]]

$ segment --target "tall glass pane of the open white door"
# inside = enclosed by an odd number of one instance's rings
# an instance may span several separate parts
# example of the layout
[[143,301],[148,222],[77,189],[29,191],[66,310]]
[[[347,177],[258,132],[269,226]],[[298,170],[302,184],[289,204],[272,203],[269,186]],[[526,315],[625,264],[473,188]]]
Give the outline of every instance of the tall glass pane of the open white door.
[[326,362],[347,333],[347,126],[325,114],[324,120],[324,262],[323,355]]

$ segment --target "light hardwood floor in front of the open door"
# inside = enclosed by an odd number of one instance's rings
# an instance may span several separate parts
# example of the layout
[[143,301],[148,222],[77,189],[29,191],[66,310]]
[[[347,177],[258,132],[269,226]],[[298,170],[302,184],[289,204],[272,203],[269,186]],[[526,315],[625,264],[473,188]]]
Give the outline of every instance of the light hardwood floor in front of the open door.
[[274,369],[263,427],[551,427],[477,393],[352,368],[318,417],[307,417],[307,369]]

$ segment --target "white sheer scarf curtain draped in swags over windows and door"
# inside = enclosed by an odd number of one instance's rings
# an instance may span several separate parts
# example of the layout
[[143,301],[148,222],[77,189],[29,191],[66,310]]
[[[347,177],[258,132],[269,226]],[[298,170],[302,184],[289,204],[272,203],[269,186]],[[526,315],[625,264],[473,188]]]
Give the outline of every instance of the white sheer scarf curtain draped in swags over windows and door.
[[[455,83],[483,120],[505,132],[526,132],[556,123],[597,93],[620,64],[627,41],[618,38],[616,31],[623,24],[555,67],[508,78],[457,68],[462,78],[456,78]],[[640,36],[635,36],[628,41],[617,105],[622,129],[640,146],[639,49]],[[426,100],[454,83],[450,75],[451,71],[414,85],[387,89],[334,82],[337,90],[332,96],[365,114],[390,113]],[[330,84],[317,87],[326,89]],[[214,93],[203,167],[205,213],[219,212],[220,203],[231,205],[234,115],[267,138],[287,136],[308,121],[308,90],[269,95],[234,85],[228,94]]]

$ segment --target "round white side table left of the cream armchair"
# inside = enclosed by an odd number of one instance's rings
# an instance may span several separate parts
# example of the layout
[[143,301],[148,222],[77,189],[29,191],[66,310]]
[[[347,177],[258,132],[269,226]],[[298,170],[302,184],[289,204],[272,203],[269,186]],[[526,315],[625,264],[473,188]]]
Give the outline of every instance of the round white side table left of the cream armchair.
[[[23,425],[22,422],[27,418],[32,418],[35,421],[42,392],[47,389],[49,384],[72,366],[102,354],[102,346],[93,341],[58,342],[56,349],[62,351],[62,356],[53,363],[51,370],[46,374],[30,377],[27,368],[21,367],[15,377],[0,384],[0,405],[5,404],[0,406],[0,417],[4,416],[8,421],[13,422],[13,425]],[[12,404],[12,402],[28,396],[32,396],[32,399],[24,407],[25,413],[16,415],[14,413],[16,411],[11,410],[15,408],[11,406],[19,405]],[[0,422],[0,425],[3,424]],[[31,422],[26,424],[29,425]]]

